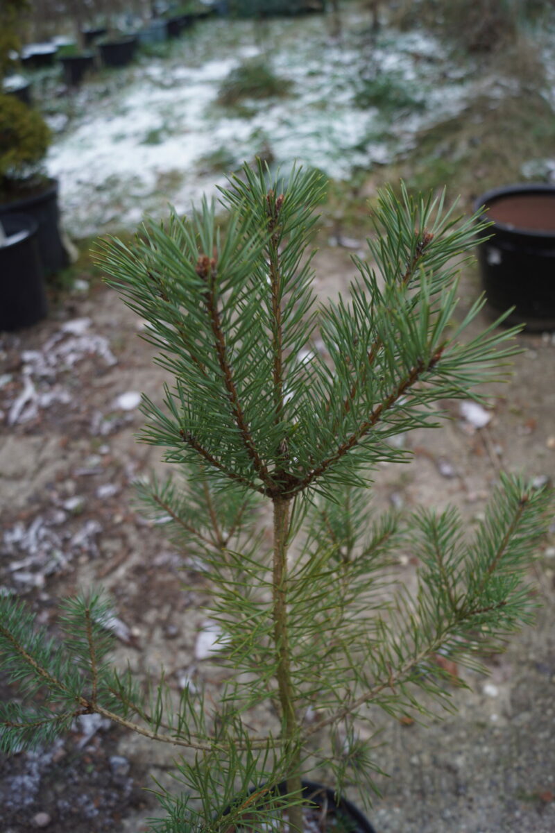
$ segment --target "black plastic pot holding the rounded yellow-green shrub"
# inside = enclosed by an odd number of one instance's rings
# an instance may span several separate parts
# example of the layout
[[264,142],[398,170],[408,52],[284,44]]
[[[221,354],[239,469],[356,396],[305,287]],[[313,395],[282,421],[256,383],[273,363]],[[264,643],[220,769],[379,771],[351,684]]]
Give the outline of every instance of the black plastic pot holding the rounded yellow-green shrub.
[[69,262],[60,233],[60,212],[57,205],[57,181],[50,179],[42,190],[27,197],[0,204],[0,217],[7,214],[30,215],[37,223],[38,251],[45,275],[59,272]]

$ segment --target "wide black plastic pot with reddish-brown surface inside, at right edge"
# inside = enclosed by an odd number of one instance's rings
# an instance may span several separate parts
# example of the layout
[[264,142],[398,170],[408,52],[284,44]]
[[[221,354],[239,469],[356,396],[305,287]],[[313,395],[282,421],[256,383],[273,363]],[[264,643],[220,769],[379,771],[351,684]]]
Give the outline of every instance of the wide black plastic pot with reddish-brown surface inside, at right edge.
[[555,186],[512,185],[479,197],[493,235],[478,247],[483,288],[492,312],[530,332],[555,329]]

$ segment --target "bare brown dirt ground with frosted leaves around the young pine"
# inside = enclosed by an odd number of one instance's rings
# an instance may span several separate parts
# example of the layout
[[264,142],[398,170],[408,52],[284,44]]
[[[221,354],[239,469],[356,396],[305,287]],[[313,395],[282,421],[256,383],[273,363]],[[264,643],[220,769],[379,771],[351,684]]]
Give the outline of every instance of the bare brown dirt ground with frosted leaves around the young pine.
[[[315,267],[323,297],[354,274],[341,247],[325,245]],[[470,270],[463,307],[476,292]],[[134,394],[159,400],[164,377],[137,338],[141,327],[93,282],[37,327],[0,337],[0,583],[54,633],[57,599],[100,583],[115,600],[118,660],[140,673],[163,664],[176,683],[185,674],[202,680],[210,676],[194,650],[206,619],[202,588],[187,574],[186,553],[132,501],[131,481],[161,470],[160,450],[134,439]],[[447,403],[453,420],[406,437],[412,464],[380,471],[379,506],[451,501],[472,522],[498,470],[523,471],[538,485],[555,479],[555,335],[519,341],[526,352],[512,381],[491,387],[488,426],[474,429]],[[376,717],[384,726],[376,756],[392,776],[369,812],[377,833],[555,831],[554,545],[555,525],[532,576],[543,603],[537,626],[488,660],[488,680],[464,673],[473,691],[453,688],[458,714],[428,727]],[[396,569],[399,579],[414,574],[403,557]],[[168,763],[166,749],[102,721],[75,726],[52,749],[0,759],[0,833],[145,831],[156,801],[141,787],[152,786],[150,776],[167,782]]]

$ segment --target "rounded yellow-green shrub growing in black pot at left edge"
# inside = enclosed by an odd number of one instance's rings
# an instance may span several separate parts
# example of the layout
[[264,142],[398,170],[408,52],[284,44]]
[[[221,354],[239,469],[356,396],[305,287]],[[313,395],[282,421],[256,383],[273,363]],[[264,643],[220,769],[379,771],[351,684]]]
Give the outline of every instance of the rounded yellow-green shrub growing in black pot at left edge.
[[7,195],[40,172],[50,144],[41,114],[14,96],[0,96],[0,192]]

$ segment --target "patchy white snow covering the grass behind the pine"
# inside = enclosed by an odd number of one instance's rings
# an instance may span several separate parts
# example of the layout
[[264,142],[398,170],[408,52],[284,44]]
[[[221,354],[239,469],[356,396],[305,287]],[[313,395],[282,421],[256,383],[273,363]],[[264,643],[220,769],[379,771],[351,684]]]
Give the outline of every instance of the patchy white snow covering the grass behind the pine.
[[[270,152],[284,169],[296,160],[348,179],[355,167],[391,161],[430,119],[458,112],[466,87],[456,76],[445,80],[436,42],[384,32],[373,45],[360,36],[366,23],[351,16],[343,37],[332,39],[320,16],[263,27],[208,21],[169,44],[164,57],[142,57],[131,70],[89,82],[47,160],[61,182],[67,230],[84,237],[133,228],[145,213],[164,216],[168,202],[187,212],[225,182],[214,156],[238,167]],[[291,95],[219,107],[221,82],[254,56],[294,82]],[[420,106],[389,115],[357,107],[361,79],[377,75],[406,85]]]

